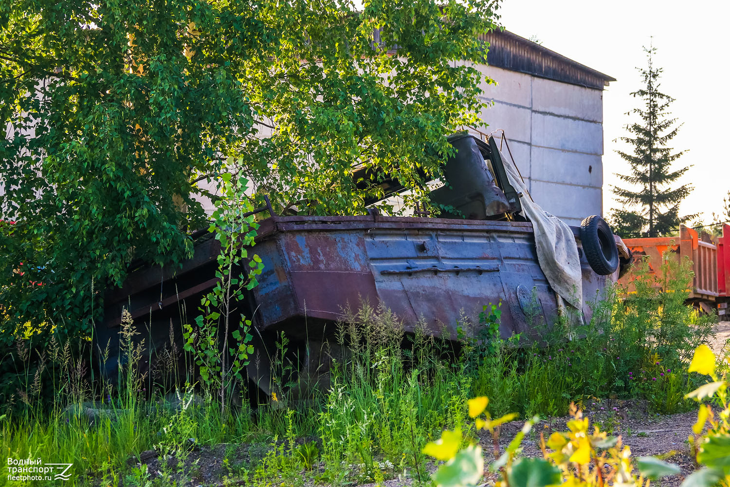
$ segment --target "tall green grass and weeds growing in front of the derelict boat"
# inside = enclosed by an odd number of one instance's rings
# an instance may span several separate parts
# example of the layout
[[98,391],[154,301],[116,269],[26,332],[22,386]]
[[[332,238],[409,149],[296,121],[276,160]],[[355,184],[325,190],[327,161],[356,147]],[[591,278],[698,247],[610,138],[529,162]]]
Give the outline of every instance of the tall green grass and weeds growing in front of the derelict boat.
[[[659,413],[691,407],[683,399],[695,386],[688,358],[709,337],[713,319],[685,304],[688,263],[664,265],[666,282],[640,265],[635,293],[607,289],[596,296],[589,323],[564,319],[535,342],[499,338],[498,307],[464,318],[458,346],[425,326],[404,334],[382,307],[347,309],[322,344],[321,353],[335,358],[327,387],[296,382],[311,377],[285,364],[281,337],[277,383],[292,387],[255,408],[248,402],[222,408],[220,394],[199,384],[177,383],[167,396],[158,384],[149,394],[157,376],[138,372],[142,343],[128,317],[115,384],[99,377],[92,383],[88,362],[74,358],[68,343],[52,340],[31,361],[19,342],[15,353],[28,364],[18,372],[25,388],[0,419],[1,448],[5,458],[73,463],[77,485],[192,484],[200,466],[186,461],[191,451],[221,443],[267,445],[246,459],[226,453],[231,481],[342,485],[404,475],[426,482],[423,445],[443,429],[468,431],[469,397],[488,396],[493,415],[564,415],[571,402],[616,398],[640,399]],[[140,461],[146,450],[164,459],[155,472]]]

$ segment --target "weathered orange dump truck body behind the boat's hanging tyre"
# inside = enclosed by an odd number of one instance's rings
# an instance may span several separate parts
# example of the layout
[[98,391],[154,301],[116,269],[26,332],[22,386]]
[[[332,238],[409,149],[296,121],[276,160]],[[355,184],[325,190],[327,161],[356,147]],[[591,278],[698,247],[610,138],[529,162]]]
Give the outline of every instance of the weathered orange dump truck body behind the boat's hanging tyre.
[[[726,240],[723,240],[721,252],[728,253],[730,250],[730,226],[726,225]],[[720,294],[720,286],[718,282],[721,280],[720,272],[723,274],[723,291],[727,292],[727,272],[730,271],[730,265],[722,266],[722,271],[718,271],[718,245],[703,239],[694,229],[686,226],[680,226],[680,234],[677,237],[645,237],[638,239],[623,239],[626,246],[631,250],[631,255],[635,261],[639,261],[643,256],[649,257],[650,272],[658,272],[661,266],[661,256],[669,250],[672,258],[679,261],[687,256],[692,261],[692,269],[694,270],[694,280],[692,282],[692,290],[689,296],[694,302],[698,302],[704,309],[710,310]],[[729,246],[725,246],[727,242]],[[621,277],[619,283],[631,286],[631,280],[634,276],[629,272]]]

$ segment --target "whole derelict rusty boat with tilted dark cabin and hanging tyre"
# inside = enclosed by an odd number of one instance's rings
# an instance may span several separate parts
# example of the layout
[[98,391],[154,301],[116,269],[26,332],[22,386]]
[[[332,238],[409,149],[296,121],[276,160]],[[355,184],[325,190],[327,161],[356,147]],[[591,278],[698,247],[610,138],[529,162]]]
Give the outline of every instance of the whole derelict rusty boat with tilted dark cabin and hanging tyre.
[[[556,321],[564,304],[554,289],[558,286],[550,285],[545,263],[541,266],[536,227],[520,202],[529,194],[515,188],[514,176],[507,175],[510,166],[505,167],[493,138],[458,134],[450,142],[458,149],[445,166],[450,185],[431,197],[453,207],[453,218],[390,217],[377,211],[278,216],[266,209],[271,215],[259,222],[255,239],[264,269],[239,310],[253,322],[255,348],[273,350],[277,335],[284,332],[291,349],[300,352],[299,366],[310,374],[326,374],[326,358],[313,350],[322,350],[320,345],[331,340],[343,308],[361,302],[383,304],[406,332],[419,326],[448,340],[456,340],[460,316],[475,316],[489,303],[502,303],[503,337],[529,336],[537,325]],[[386,194],[401,189],[393,180],[376,183]],[[572,302],[580,303],[581,309],[574,311],[590,320],[590,302],[629,264],[630,256],[601,218],[592,216],[584,223],[569,229],[569,245],[575,245],[579,259],[573,264],[580,266],[581,296]],[[169,345],[182,348],[181,323],[195,314],[201,297],[217,283],[220,243],[203,232],[196,237],[195,255],[180,269],[138,269],[123,287],[107,291],[104,318],[95,334],[101,348],[110,344],[107,359],[100,361],[107,375],[115,375],[119,364],[123,309],[145,322],[142,336],[150,347],[146,367],[153,367],[158,352]],[[269,393],[266,356],[260,353],[248,372]]]

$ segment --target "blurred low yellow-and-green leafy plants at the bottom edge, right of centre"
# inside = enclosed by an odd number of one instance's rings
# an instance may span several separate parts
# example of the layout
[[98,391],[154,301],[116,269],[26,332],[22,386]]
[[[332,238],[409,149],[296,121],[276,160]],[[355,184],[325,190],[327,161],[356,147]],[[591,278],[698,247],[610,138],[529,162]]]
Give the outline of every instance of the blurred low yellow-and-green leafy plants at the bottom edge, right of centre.
[[[469,399],[469,416],[475,418],[477,429],[495,428],[514,415],[505,415],[493,420],[485,408],[486,397]],[[631,450],[621,444],[621,437],[609,437],[599,426],[590,430],[588,418],[571,404],[572,420],[567,421],[568,431],[556,432],[548,440],[540,433],[542,459],[520,458],[520,445],[539,418],[534,416],[525,425],[504,453],[494,461],[490,469],[499,471],[496,487],[547,487],[557,484],[593,487],[606,484],[621,486],[646,486],[650,480],[680,472],[679,467],[653,457],[641,457],[637,464],[639,475],[634,472]],[[484,415],[484,418],[480,418]],[[460,448],[466,440],[460,430],[445,431],[441,439],[430,442],[423,453],[445,461],[431,478],[439,487],[476,486],[483,475],[482,449],[469,445]],[[495,451],[498,453],[498,450]],[[495,456],[497,456],[495,454]]]

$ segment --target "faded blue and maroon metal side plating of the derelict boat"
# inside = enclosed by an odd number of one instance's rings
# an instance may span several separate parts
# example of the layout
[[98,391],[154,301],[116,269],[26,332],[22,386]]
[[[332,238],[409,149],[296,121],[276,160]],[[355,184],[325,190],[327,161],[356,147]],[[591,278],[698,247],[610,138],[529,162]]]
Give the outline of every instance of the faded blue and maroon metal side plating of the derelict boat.
[[[255,251],[265,270],[253,296],[261,329],[305,315],[336,320],[345,304],[357,307],[361,299],[389,307],[406,331],[422,319],[435,334],[446,329],[450,338],[456,338],[461,312],[473,317],[490,302],[504,304],[505,337],[531,331],[526,299],[539,305],[548,323],[556,316],[531,223],[277,217],[262,222],[259,238]],[[582,264],[588,302],[605,278]],[[589,318],[587,305],[584,311]]]

